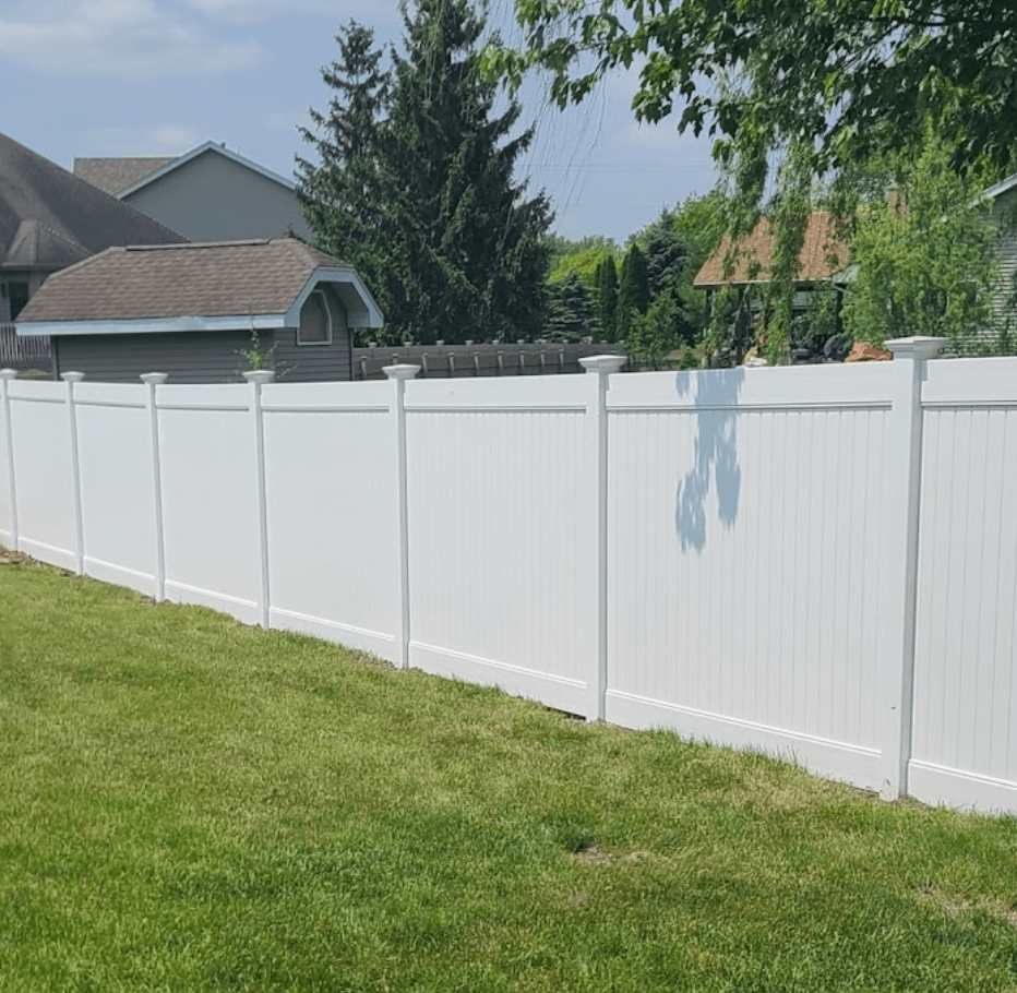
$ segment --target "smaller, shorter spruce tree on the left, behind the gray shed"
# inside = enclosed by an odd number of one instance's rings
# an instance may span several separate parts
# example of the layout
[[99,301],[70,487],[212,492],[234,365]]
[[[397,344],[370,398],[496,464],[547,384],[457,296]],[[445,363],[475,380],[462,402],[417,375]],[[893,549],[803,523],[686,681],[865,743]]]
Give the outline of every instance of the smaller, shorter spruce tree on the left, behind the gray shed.
[[300,129],[319,165],[298,157],[298,192],[314,243],[355,266],[384,308],[380,156],[388,73],[371,28],[350,20],[335,40],[339,59],[322,69],[335,96],[326,113],[310,111],[312,129]]

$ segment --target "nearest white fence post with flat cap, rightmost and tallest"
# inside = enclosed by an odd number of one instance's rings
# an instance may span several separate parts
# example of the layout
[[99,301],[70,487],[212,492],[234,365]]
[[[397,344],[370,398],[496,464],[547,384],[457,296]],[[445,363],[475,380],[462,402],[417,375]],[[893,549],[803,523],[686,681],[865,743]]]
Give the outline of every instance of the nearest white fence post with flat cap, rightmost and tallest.
[[945,338],[910,337],[887,342],[894,354],[893,410],[887,436],[894,478],[887,501],[892,563],[887,597],[890,656],[883,674],[884,728],[881,794],[896,800],[908,791],[914,691],[914,614],[918,594],[918,527],[922,475],[922,381],[925,362]]

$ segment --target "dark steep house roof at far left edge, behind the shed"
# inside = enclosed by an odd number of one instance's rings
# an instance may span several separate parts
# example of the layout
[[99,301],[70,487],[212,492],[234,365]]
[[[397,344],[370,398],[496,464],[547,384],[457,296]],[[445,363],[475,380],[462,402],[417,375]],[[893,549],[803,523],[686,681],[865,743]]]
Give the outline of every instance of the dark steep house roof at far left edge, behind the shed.
[[56,270],[111,244],[183,240],[0,134],[0,268]]

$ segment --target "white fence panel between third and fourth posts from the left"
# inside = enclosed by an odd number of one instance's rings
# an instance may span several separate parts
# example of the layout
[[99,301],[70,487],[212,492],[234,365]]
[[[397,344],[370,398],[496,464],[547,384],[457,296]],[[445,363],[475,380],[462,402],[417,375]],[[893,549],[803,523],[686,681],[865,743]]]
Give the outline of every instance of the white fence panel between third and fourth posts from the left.
[[159,386],[166,596],[259,620],[251,387]]

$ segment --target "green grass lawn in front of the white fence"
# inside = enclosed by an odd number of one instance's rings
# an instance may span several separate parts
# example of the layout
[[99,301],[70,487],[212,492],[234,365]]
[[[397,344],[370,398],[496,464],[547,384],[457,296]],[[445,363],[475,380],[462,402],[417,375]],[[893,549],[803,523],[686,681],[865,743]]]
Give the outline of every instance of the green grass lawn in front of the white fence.
[[0,564],[2,993],[998,993],[1015,904],[1013,818]]

